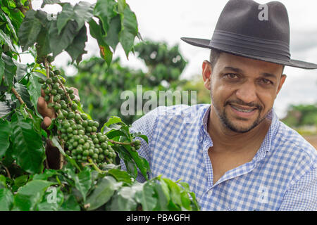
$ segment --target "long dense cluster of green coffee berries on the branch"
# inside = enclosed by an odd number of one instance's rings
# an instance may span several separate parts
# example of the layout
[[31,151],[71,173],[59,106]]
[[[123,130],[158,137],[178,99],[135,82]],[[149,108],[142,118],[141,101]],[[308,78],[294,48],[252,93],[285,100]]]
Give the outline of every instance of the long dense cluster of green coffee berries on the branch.
[[58,136],[63,142],[66,154],[77,161],[113,163],[116,153],[108,144],[108,137],[97,132],[99,122],[89,120],[85,113],[80,113],[73,89],[64,86],[65,79],[58,70],[51,71],[46,64],[47,79],[39,79],[44,90],[44,99],[49,108],[54,108],[58,120]]

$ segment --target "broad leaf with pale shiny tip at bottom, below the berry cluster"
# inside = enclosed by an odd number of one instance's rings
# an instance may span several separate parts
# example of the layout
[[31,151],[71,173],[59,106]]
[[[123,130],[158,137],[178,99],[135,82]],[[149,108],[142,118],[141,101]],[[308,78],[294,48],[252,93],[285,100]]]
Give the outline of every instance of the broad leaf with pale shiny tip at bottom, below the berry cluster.
[[122,182],[117,182],[112,176],[104,176],[97,184],[97,188],[88,196],[85,202],[87,210],[95,210],[107,203],[122,184]]

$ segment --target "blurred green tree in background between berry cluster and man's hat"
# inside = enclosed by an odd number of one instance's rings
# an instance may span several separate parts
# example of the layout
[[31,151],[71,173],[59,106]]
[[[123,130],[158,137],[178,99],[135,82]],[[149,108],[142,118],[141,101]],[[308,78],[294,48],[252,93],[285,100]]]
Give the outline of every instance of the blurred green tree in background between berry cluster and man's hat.
[[[152,90],[156,93],[175,90],[178,86],[178,79],[186,65],[178,45],[168,48],[166,43],[144,41],[135,46],[135,53],[144,60],[148,72],[123,67],[119,58],[113,60],[109,67],[101,58],[90,58],[77,66],[77,75],[67,78],[68,84],[79,90],[85,112],[100,124],[112,115],[121,117],[128,124],[141,117],[120,113],[120,106],[125,101],[120,99],[123,91],[130,90],[136,96],[137,85],[142,85],[143,92]],[[143,100],[142,105],[146,102]]]

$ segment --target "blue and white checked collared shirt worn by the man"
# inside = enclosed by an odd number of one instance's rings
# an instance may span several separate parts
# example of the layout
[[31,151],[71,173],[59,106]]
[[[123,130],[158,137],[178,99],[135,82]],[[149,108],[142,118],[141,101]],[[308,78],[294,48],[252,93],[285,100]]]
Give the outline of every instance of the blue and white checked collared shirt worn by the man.
[[[201,210],[317,210],[316,149],[273,110],[254,158],[213,184],[209,112],[208,104],[163,106],[132,124],[131,132],[149,138],[149,144],[140,139],[139,154],[149,162],[150,178],[162,174],[187,182]],[[140,174],[137,180],[145,181]]]

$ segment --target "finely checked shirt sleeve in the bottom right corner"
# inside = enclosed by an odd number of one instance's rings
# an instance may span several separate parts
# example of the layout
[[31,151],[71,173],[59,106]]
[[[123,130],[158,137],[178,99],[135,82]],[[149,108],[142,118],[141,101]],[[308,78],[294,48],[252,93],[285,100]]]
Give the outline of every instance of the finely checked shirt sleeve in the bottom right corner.
[[282,200],[281,211],[317,210],[317,167],[312,167],[292,185]]

